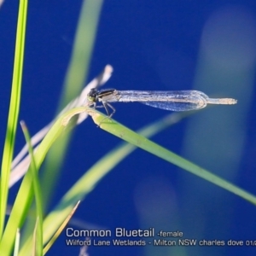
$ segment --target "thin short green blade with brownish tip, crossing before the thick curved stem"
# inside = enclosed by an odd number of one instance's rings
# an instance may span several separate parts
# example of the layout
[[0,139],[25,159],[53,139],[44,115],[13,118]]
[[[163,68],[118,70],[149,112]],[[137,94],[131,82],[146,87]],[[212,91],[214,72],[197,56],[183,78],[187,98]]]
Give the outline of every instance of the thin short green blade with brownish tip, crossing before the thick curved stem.
[[34,159],[34,154],[33,154],[33,148],[32,148],[32,143],[31,143],[31,138],[29,135],[29,131],[26,128],[26,124],[24,121],[20,121],[20,125],[22,128],[22,131],[24,133],[24,137],[26,139],[27,147],[28,147],[28,152],[30,154],[30,159],[31,159],[31,168],[30,174],[32,175],[32,187],[33,187],[33,192],[35,194],[35,201],[36,201],[36,216],[37,222],[35,226],[36,233],[34,233],[35,236],[35,244],[34,244],[34,249],[36,250],[34,253],[35,255],[43,255],[43,201],[42,201],[42,190],[40,187],[39,179],[38,179],[38,169],[36,166],[36,162]]

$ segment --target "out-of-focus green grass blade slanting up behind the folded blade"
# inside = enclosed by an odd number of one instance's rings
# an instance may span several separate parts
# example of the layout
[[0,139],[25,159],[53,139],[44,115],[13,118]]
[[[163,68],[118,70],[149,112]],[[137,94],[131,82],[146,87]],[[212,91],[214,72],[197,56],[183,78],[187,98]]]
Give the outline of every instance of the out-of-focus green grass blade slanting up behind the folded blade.
[[[155,133],[165,129],[166,127],[177,123],[180,119],[186,117],[188,113],[172,113],[166,116],[164,119],[154,122],[152,125],[148,125],[140,132],[143,132],[145,136],[153,136]],[[68,119],[67,119],[68,122]],[[44,243],[49,241],[53,236],[55,230],[61,225],[68,213],[72,210],[73,205],[78,200],[83,200],[92,189],[95,188],[102,177],[110,172],[114,166],[116,166],[121,160],[130,154],[135,148],[131,144],[121,143],[117,148],[111,150],[106,154],[102,160],[99,160],[94,166],[90,168],[84,176],[79,179],[77,183],[73,185],[66,195],[62,198],[61,202],[55,210],[49,214],[44,220]],[[31,247],[30,239],[27,240],[26,245],[21,250],[21,255],[26,255],[28,248]]]

